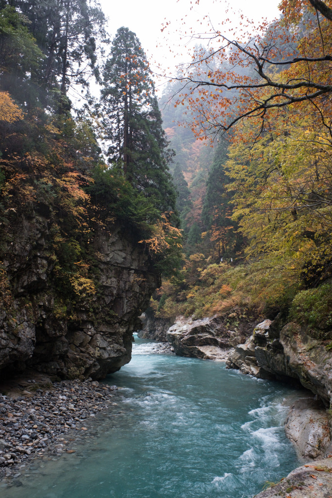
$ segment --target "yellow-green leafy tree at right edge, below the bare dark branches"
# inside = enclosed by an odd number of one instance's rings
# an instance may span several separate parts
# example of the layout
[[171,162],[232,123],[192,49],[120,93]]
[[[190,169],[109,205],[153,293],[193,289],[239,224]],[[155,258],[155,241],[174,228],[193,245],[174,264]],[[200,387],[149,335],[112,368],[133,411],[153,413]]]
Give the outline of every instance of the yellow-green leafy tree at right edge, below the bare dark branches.
[[310,287],[332,276],[331,144],[309,112],[289,113],[286,123],[283,117],[261,140],[231,146],[228,188],[247,255],[260,258],[271,280]]

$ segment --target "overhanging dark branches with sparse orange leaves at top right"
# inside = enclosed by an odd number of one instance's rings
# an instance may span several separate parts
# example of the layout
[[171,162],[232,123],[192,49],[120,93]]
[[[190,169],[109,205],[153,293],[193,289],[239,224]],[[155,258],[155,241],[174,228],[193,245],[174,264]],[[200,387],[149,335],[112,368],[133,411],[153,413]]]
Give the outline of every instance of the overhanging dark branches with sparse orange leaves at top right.
[[[242,21],[242,30],[247,30],[241,39],[222,31],[229,27],[228,19],[221,22],[221,29],[211,26],[212,34],[206,37],[221,44],[201,58],[193,57],[180,78],[183,91],[177,104],[187,100],[199,116],[191,122],[196,133],[206,136],[248,120],[259,123],[263,132],[279,111],[307,102],[331,135],[330,4],[331,0],[283,0],[279,21],[262,22],[254,34]],[[208,73],[208,81],[197,78],[198,67],[210,61],[218,64]]]

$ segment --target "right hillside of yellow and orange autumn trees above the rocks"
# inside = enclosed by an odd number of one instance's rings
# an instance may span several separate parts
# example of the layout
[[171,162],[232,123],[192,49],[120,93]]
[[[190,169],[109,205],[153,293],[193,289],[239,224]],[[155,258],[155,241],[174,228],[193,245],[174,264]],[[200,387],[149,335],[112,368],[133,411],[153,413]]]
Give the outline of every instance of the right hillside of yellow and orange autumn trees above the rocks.
[[151,306],[159,317],[227,312],[235,321],[281,311],[330,343],[332,10],[329,1],[280,8],[258,33],[243,19],[242,39],[225,37],[226,22],[210,26],[211,45],[196,47],[163,97],[173,88],[175,110],[162,109],[180,152],[187,258]]

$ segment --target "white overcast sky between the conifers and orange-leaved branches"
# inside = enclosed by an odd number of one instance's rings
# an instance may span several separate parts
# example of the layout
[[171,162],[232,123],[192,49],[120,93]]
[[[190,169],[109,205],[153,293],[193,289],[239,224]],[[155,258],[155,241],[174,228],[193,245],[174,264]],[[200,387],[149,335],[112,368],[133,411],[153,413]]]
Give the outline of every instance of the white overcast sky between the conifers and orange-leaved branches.
[[[226,0],[99,0],[102,9],[109,18],[108,31],[113,36],[116,30],[125,26],[136,33],[144,49],[151,67],[156,63],[163,63],[165,69],[170,66],[171,71],[176,63],[185,62],[188,58],[174,54],[186,52],[185,41],[180,40],[180,33],[193,27],[196,32],[204,32],[206,22],[201,21],[209,15],[214,27],[229,17],[225,10],[229,5]],[[277,8],[280,0],[232,0],[234,23],[238,19],[239,10],[258,23],[263,17],[272,20],[279,16]],[[192,6],[192,9],[191,9]],[[185,26],[183,25],[183,19]],[[161,32],[162,24],[170,21],[169,26]],[[158,46],[157,46],[158,45]],[[172,53],[170,50],[174,51]],[[156,61],[156,63],[155,63]]]

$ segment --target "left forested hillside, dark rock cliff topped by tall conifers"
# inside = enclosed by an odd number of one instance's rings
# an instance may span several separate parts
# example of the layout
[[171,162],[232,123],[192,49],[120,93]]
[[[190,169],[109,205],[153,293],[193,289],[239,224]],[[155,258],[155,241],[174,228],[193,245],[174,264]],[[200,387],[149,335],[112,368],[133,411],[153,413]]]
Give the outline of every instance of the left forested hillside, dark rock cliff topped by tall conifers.
[[148,61],[97,2],[0,7],[0,369],[102,376],[181,257]]

